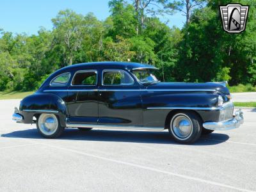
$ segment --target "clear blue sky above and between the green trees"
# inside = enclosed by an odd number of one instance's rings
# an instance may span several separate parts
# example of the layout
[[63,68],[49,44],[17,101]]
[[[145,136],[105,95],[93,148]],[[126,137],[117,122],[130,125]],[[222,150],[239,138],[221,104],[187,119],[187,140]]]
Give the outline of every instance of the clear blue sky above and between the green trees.
[[[36,34],[40,27],[50,30],[51,19],[67,8],[83,15],[92,12],[99,20],[109,16],[108,0],[1,0],[0,29],[28,35]],[[176,13],[161,20],[182,28],[185,17]]]

